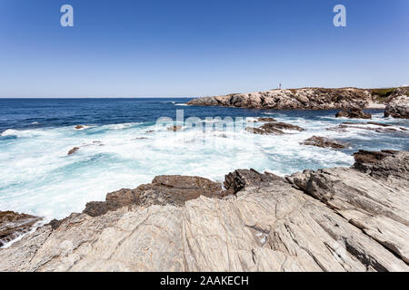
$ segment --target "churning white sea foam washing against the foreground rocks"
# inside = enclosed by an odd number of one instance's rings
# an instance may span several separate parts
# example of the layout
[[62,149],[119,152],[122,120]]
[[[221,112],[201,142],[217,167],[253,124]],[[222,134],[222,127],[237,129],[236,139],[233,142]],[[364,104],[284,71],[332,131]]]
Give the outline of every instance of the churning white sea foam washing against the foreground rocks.
[[[174,132],[167,130],[170,124],[156,127],[142,123],[92,126],[82,131],[73,127],[6,130],[1,136],[17,139],[0,146],[0,210],[25,212],[47,221],[81,212],[88,201],[104,200],[107,192],[117,189],[134,189],[161,174],[222,181],[224,174],[234,169],[254,168],[284,176],[303,169],[350,166],[354,160],[349,151],[300,143],[318,135],[372,146],[374,138],[384,138],[383,134],[361,129],[327,131],[340,122],[327,117],[310,121],[273,115],[277,121],[307,131],[254,135],[244,131],[249,126],[245,119],[243,128],[239,126],[236,131],[216,127],[215,131],[204,132],[185,126],[183,131]],[[394,123],[389,119],[379,121]],[[67,156],[74,147],[80,149]]]

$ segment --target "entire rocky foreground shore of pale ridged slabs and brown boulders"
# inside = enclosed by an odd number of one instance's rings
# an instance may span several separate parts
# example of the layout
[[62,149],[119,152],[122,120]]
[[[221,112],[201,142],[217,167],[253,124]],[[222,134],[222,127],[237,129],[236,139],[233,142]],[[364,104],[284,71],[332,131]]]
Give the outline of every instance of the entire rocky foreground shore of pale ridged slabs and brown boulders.
[[0,271],[409,271],[409,152],[354,158],[156,177],[0,249]]

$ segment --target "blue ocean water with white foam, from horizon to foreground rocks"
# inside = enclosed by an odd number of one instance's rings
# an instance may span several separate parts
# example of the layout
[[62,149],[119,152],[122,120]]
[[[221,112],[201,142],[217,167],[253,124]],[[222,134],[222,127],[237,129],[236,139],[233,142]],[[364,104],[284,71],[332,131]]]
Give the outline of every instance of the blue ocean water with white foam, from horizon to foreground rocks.
[[[134,189],[156,175],[197,175],[223,180],[234,169],[254,168],[278,175],[303,169],[350,166],[351,154],[364,150],[409,150],[409,121],[383,118],[370,111],[372,121],[396,131],[371,131],[376,125],[346,131],[328,130],[344,121],[335,111],[269,111],[186,106],[190,99],[0,99],[0,210],[15,210],[51,218],[80,212],[107,192]],[[234,131],[189,127],[169,131],[172,122],[158,127],[161,117],[196,117],[205,126],[211,120],[243,118]],[[255,117],[299,125],[306,131],[282,136],[254,135],[244,128]],[[205,120],[206,118],[210,118]],[[237,124],[237,122],[236,122]],[[85,128],[76,130],[76,125]],[[209,127],[210,128],[210,127]],[[345,150],[301,145],[313,136],[349,143]],[[68,150],[78,147],[75,154]]]

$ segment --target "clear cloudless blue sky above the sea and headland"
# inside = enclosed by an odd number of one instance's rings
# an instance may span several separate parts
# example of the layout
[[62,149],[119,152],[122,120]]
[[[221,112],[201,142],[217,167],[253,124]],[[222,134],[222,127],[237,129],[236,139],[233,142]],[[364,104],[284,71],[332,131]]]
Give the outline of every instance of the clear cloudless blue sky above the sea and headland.
[[[75,26],[60,25],[60,7]],[[346,6],[347,27],[333,25]],[[0,97],[409,82],[409,1],[0,0]]]

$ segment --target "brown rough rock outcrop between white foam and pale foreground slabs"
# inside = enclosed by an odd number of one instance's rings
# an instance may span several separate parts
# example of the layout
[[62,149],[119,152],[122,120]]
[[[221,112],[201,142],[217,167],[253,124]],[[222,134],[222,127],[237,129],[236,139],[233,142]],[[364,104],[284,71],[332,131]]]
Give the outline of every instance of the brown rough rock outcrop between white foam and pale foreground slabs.
[[91,217],[130,205],[148,207],[151,205],[183,206],[185,201],[205,196],[222,198],[229,192],[220,183],[191,176],[157,176],[150,184],[137,189],[121,189],[108,193],[105,201],[88,202],[84,213]]

